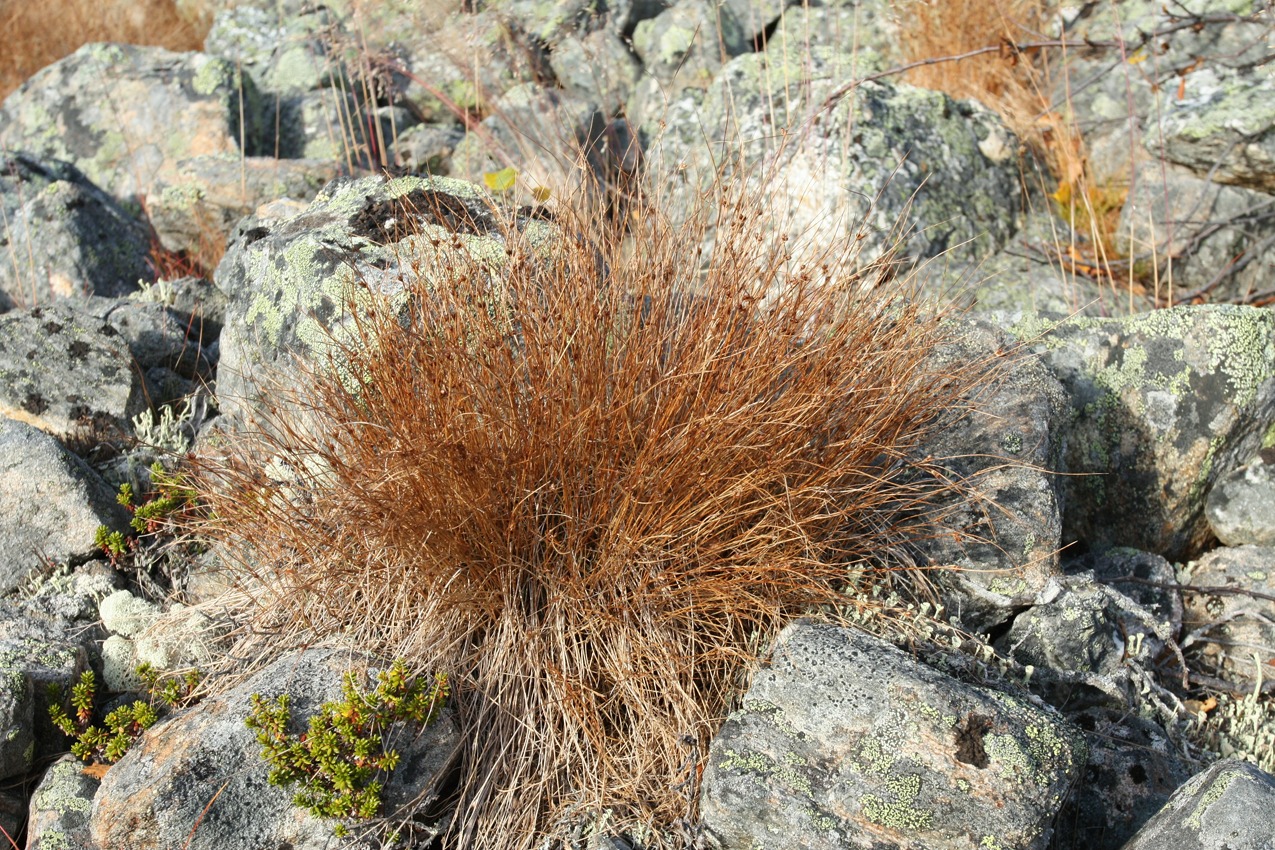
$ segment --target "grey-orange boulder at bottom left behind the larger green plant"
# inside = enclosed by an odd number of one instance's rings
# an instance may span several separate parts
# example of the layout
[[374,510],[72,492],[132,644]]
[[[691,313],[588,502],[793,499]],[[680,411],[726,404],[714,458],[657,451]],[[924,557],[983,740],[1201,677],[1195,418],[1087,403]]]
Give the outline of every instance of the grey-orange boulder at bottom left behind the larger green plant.
[[[297,731],[303,728],[301,719],[321,702],[340,697],[344,670],[366,663],[333,650],[307,650],[152,726],[102,780],[93,800],[93,840],[112,850],[344,846],[333,836],[333,822],[292,804],[293,790],[266,784],[269,767],[244,720],[251,695],[272,698],[286,692]],[[444,712],[423,735],[404,744],[400,766],[386,785],[386,809],[436,784],[458,743],[454,715]]]

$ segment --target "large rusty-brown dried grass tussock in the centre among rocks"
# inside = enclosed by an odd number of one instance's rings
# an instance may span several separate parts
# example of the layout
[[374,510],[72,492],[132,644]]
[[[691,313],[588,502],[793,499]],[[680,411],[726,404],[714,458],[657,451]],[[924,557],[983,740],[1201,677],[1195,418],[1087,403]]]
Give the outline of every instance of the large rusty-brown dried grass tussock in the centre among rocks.
[[205,469],[251,553],[236,655],[340,636],[449,674],[450,846],[589,816],[667,844],[766,640],[871,604],[954,486],[918,447],[980,367],[936,372],[942,316],[853,237],[793,257],[723,198],[627,234],[565,204],[501,260],[458,240]]

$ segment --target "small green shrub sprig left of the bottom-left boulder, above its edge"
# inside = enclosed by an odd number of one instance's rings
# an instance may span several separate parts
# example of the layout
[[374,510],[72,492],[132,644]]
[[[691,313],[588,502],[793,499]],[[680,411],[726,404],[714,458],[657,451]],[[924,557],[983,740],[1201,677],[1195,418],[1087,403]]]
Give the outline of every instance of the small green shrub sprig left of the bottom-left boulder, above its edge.
[[200,678],[198,670],[162,683],[159,672],[149,664],[139,665],[136,674],[147,686],[148,698],[115,709],[103,717],[103,726],[93,725],[97,701],[97,677],[93,670],[84,670],[80,681],[71,687],[70,707],[74,714],[66,712],[61,689],[56,684],[50,686],[48,716],[55,726],[75,739],[71,744],[73,756],[85,762],[113,765],[129,752],[143,731],[159,720],[161,706],[184,707],[196,698],[194,691]]

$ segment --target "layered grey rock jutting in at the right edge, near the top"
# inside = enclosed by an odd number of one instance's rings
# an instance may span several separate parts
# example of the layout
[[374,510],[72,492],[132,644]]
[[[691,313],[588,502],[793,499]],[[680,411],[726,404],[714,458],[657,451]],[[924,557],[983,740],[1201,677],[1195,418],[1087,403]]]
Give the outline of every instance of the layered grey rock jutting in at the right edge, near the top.
[[1275,191],[1271,69],[1219,75],[1192,89],[1172,103],[1160,131],[1148,134],[1151,150],[1223,184]]

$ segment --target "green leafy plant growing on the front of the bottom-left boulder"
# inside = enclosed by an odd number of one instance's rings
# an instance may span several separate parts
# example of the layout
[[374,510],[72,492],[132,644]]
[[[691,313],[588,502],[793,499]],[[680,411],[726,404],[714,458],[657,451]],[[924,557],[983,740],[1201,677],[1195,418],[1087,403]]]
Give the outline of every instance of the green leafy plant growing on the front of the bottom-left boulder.
[[[245,721],[256,730],[270,765],[269,782],[286,788],[300,784],[293,803],[325,818],[375,817],[381,808],[381,777],[398,765],[399,753],[385,746],[394,724],[423,728],[433,721],[448,696],[448,679],[432,683],[409,677],[398,660],[377,675],[371,693],[360,691],[354,673],[347,673],[342,700],[325,702],[310,717],[305,734],[288,731],[292,709],[288,695],[274,700],[252,695],[252,711]],[[338,836],[347,833],[338,823]]]

